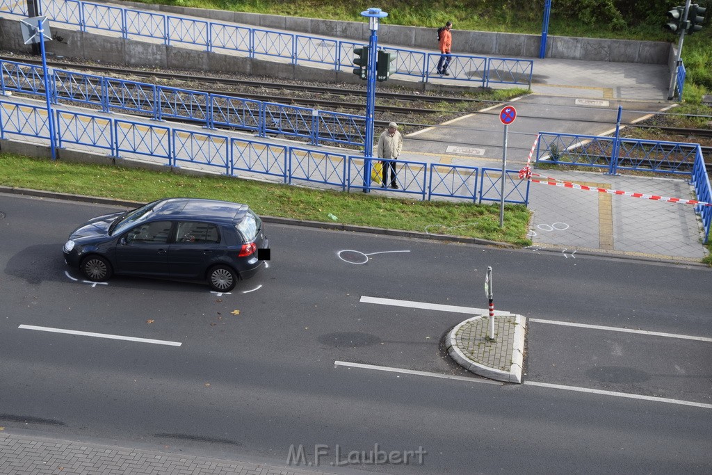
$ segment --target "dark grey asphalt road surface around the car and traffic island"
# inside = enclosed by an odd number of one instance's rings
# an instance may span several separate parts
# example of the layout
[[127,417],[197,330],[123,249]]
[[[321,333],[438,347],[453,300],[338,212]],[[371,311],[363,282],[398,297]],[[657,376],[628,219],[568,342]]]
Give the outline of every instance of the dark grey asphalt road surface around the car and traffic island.
[[[712,469],[712,408],[690,405],[712,403],[712,341],[679,337],[712,337],[707,268],[272,225],[270,267],[230,294],[135,278],[86,283],[61,246],[113,209],[0,194],[8,430],[276,464],[300,444],[313,462],[323,444],[318,469],[337,472]],[[441,345],[467,315],[360,302],[483,308],[487,266],[496,309],[530,319],[526,382],[670,402],[488,384]],[[374,444],[427,453],[423,464],[331,465],[337,446],[343,460]]]

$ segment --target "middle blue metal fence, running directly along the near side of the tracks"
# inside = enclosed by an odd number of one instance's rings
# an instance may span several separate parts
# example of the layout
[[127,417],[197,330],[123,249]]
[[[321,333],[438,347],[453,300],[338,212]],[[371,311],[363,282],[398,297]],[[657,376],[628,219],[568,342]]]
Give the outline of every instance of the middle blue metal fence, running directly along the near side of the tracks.
[[[156,120],[192,120],[208,128],[252,130],[260,137],[280,134],[301,137],[312,145],[338,143],[363,147],[365,117],[328,110],[249,100],[229,95],[106,78],[55,69],[51,101],[98,106],[103,112],[121,110],[150,115]],[[0,61],[0,93],[42,95],[42,68]]]

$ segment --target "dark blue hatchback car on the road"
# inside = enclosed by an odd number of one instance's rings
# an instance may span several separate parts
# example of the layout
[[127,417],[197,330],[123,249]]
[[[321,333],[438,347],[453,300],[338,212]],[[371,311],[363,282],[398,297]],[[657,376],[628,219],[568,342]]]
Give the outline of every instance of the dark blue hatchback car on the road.
[[167,198],[90,219],[64,245],[90,281],[112,274],[203,281],[220,292],[270,259],[262,220],[246,204]]

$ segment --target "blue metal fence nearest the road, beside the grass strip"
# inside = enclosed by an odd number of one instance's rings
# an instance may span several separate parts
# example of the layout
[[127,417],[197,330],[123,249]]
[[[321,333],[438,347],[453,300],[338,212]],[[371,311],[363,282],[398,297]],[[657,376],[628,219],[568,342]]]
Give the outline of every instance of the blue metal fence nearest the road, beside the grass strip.
[[[0,100],[0,138],[32,137],[49,141],[47,110]],[[170,167],[190,167],[230,176],[269,175],[282,182],[310,182],[338,189],[382,190],[364,172],[377,161],[394,163],[397,189],[390,193],[415,195],[420,199],[449,197],[469,202],[498,201],[500,186],[491,174],[492,186],[477,187],[477,177],[488,173],[476,167],[429,165],[409,160],[364,159],[326,150],[275,145],[219,133],[178,129],[155,123],[134,122],[112,116],[76,113],[56,109],[56,137],[60,148],[69,145],[82,150],[131,158]],[[368,166],[366,166],[368,165]],[[501,174],[501,172],[498,172]],[[508,170],[506,201],[527,204],[528,180],[516,181],[518,171]]]

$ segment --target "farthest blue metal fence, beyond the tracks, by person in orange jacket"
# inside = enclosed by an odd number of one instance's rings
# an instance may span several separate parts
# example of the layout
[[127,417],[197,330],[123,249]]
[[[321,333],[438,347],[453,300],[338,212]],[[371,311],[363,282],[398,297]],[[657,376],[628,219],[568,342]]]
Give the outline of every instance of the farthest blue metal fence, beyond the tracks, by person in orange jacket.
[[[123,9],[118,6],[77,0],[39,0],[43,14],[80,31],[112,31],[122,38],[152,38],[165,45],[181,43],[204,51],[239,51],[250,58],[268,56],[289,63],[319,63],[335,70],[352,68],[352,50],[364,43],[340,41],[320,36],[246,28],[217,21],[205,21],[153,11]],[[0,11],[26,16],[23,6],[0,0]],[[532,60],[452,55],[449,76],[436,75],[439,53],[407,48],[385,48],[395,53],[394,75],[466,81],[487,87],[491,83],[531,85]]]

